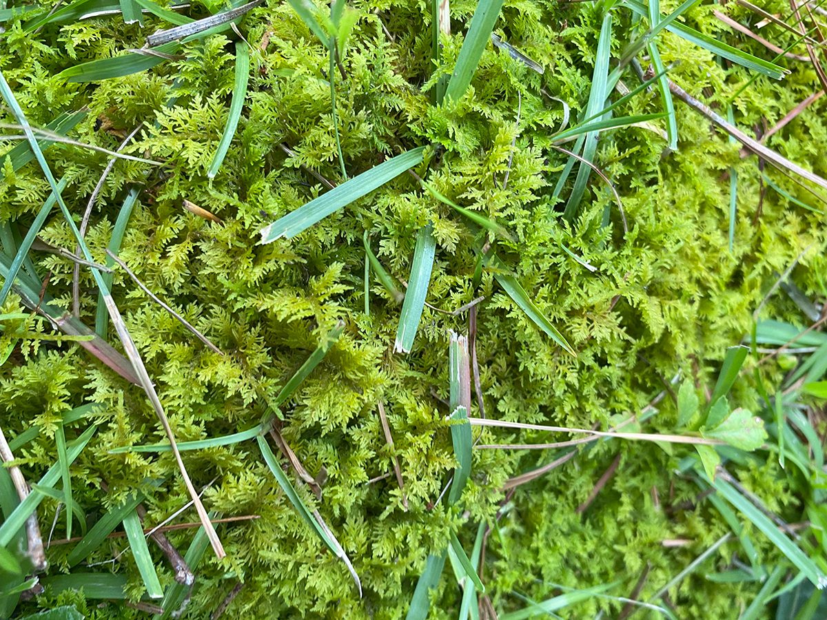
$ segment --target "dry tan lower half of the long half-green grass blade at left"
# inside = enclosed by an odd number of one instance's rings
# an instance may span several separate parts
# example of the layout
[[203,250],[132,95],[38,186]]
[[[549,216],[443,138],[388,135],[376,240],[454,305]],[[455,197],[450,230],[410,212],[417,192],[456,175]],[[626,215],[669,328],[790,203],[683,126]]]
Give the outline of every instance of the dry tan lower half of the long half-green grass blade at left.
[[155,392],[155,386],[152,384],[150,375],[146,371],[146,366],[144,365],[144,361],[141,359],[141,354],[138,353],[138,347],[135,346],[135,342],[132,341],[132,336],[127,330],[126,324],[123,322],[121,311],[117,309],[117,305],[115,304],[115,300],[112,299],[112,295],[108,293],[108,291],[104,291],[103,293],[103,302],[106,303],[109,317],[112,319],[112,325],[115,327],[117,336],[121,339],[123,350],[126,352],[127,358],[131,361],[132,368],[135,369],[135,373],[141,381],[141,386],[146,392],[146,396],[149,398],[152,408],[155,409],[155,414],[158,416],[161,426],[164,427],[166,438],[170,441],[170,448],[172,449],[172,453],[175,457],[175,462],[178,464],[178,469],[181,472],[181,477],[184,479],[184,485],[187,487],[189,497],[193,500],[195,510],[198,513],[198,518],[204,527],[204,532],[207,534],[210,545],[213,546],[213,552],[218,559],[221,559],[227,556],[227,554],[224,552],[224,547],[218,539],[218,534],[213,527],[213,523],[210,522],[206,508],[204,508],[203,503],[201,503],[201,498],[198,497],[198,491],[195,490],[192,480],[189,479],[187,468],[184,466],[184,460],[181,458],[181,453],[178,450],[178,444],[175,442],[172,427],[170,427],[170,420],[166,417],[164,406],[160,403],[158,393]]

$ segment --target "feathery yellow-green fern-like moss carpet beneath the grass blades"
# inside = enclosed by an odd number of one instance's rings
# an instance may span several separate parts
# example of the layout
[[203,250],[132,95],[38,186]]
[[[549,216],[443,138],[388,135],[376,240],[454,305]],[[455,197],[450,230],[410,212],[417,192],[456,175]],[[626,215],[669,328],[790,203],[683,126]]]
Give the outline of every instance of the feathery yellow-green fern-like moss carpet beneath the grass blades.
[[[771,5],[784,10],[783,2]],[[455,31],[464,30],[474,6],[469,0],[452,2]],[[184,54],[149,72],[94,84],[65,83],[55,76],[79,62],[140,47],[146,32],[158,24],[155,17],[146,17],[143,30],[124,26],[119,17],[102,17],[45,26],[36,35],[24,34],[21,24],[11,21],[0,40],[0,69],[32,123],[43,125],[58,112],[87,107],[73,138],[110,150],[143,123],[125,152],[165,161],[149,176],[146,165],[118,161],[103,185],[87,239],[95,259],[105,260],[127,188],[141,185],[122,260],[227,353],[218,355],[195,341],[116,269],[115,298],[178,441],[255,426],[265,410],[262,397],[275,398],[318,341],[338,320],[347,322],[337,345],[284,408],[282,432],[310,472],[327,470],[323,500],[304,490],[303,498],[318,507],[336,532],[361,576],[364,598],[358,599],[344,566],[322,550],[294,513],[248,442],[185,455],[194,484],[209,485],[204,495],[208,509],[261,517],[219,529],[227,559],[207,555],[199,565],[189,618],[207,617],[235,580],[245,584],[232,603],[231,612],[238,617],[399,618],[428,552],[442,549],[447,532],[459,532],[470,548],[471,524],[494,524],[504,481],[553,459],[544,451],[477,450],[463,496],[466,512],[436,503],[455,465],[448,412],[439,400],[448,392],[448,331],[467,331],[466,318],[426,308],[414,351],[394,354],[399,305],[378,282],[370,287],[370,316],[364,313],[365,231],[385,269],[402,281],[408,278],[416,231],[433,222],[437,260],[428,301],[452,311],[485,296],[478,307],[477,334],[485,413],[509,421],[605,428],[619,414],[639,412],[662,389],[662,380],[678,371],[711,387],[726,346],[748,332],[773,273],[786,269],[805,247],[814,250],[801,259],[796,282],[808,293],[823,290],[815,280],[824,263],[820,218],[772,191],[756,216],[756,161],[742,160],[737,145],[710,132],[709,124],[681,103],[676,103],[676,153],[665,152],[665,142],[651,127],[601,136],[596,163],[621,194],[628,234],[605,184],[596,178],[576,221],[562,218],[552,188],[566,159],[552,149],[549,136],[562,124],[562,102],[574,114],[586,106],[600,31],[601,13],[595,7],[506,2],[498,31],[543,64],[545,73],[536,74],[489,46],[469,94],[446,107],[434,107],[426,90],[436,79],[428,2],[370,0],[356,7],[361,19],[347,51],[347,79],[337,82],[347,171],[357,174],[401,150],[434,145],[439,156],[429,180],[457,203],[508,227],[514,241],[500,240],[498,253],[564,332],[576,358],[538,331],[490,271],[484,270],[475,289],[480,237],[408,175],[292,241],[256,245],[261,227],[326,191],[304,169],[342,181],[322,69],[327,52],[286,3],[269,2],[243,21],[254,69],[237,136],[212,181],[207,169],[232,91],[231,35],[187,44]],[[711,8],[693,9],[691,23],[732,38],[710,16]],[[204,14],[198,5],[192,11]],[[734,11],[743,17],[743,9]],[[633,29],[628,12],[617,13],[615,55]],[[447,67],[461,41],[456,34],[444,41]],[[676,36],[658,41],[664,63],[676,63],[672,79],[699,96],[703,89],[712,105],[724,106],[749,78],[747,71],[723,67]],[[766,56],[753,42],[739,40],[738,45]],[[635,83],[631,72],[623,79]],[[758,77],[735,99],[736,120],[746,128],[762,119],[772,125],[816,88],[815,74],[801,64],[783,83]],[[175,103],[165,107],[170,98]],[[827,175],[824,102],[802,112],[772,138],[772,146]],[[617,113],[659,112],[660,106],[657,92],[644,92]],[[7,112],[3,122],[13,122]],[[285,155],[282,143],[294,155]],[[55,145],[47,157],[56,176],[69,180],[65,198],[79,220],[108,155]],[[739,179],[732,253],[727,249],[726,178],[731,168]],[[506,170],[509,184],[504,188]],[[767,174],[809,199],[778,174]],[[7,169],[0,181],[0,217],[26,228],[48,193],[36,166],[14,173]],[[184,199],[213,212],[222,224],[185,211]],[[601,227],[606,208],[609,225]],[[50,217],[41,237],[53,246],[74,248],[59,214]],[[588,260],[595,273],[561,246]],[[51,274],[50,293],[69,307],[71,263],[42,253],[33,258],[41,276]],[[80,290],[81,317],[93,324],[98,294],[86,269],[81,270]],[[20,308],[12,296],[4,312]],[[789,303],[772,302],[768,312],[798,320]],[[762,372],[771,382],[780,376],[775,368]],[[43,427],[18,455],[31,473],[54,461],[53,432],[61,411],[103,403],[95,417],[99,431],[72,468],[75,499],[90,521],[136,488],[146,494],[150,523],[187,502],[168,453],[108,452],[165,441],[165,436],[141,390],[79,346],[41,344],[26,356],[16,351],[0,375],[0,416],[7,434],[32,423]],[[739,383],[731,398],[747,407],[755,402],[749,379]],[[392,475],[371,480],[390,474],[392,466],[376,412],[379,399],[388,411],[408,511]],[[648,432],[672,432],[674,427],[674,407],[668,401],[646,422]],[[79,429],[67,432],[71,437]],[[541,433],[504,429],[486,429],[478,436],[483,444],[548,441]],[[543,599],[552,591],[550,584],[585,588],[621,579],[628,594],[647,565],[651,570],[642,599],[667,583],[728,529],[711,507],[695,505],[696,486],[672,473],[688,453],[676,448],[670,454],[642,442],[596,444],[520,487],[486,548],[484,579],[495,608],[519,607],[514,592]],[[621,455],[617,475],[586,513],[576,513],[616,454]],[[772,508],[795,518],[800,508],[783,488],[784,473],[774,455],[765,457],[766,462],[743,468],[743,477],[756,493],[775,498]],[[108,493],[101,489],[104,480]],[[692,508],[681,508],[687,500]],[[56,505],[50,499],[42,504],[41,524],[51,522]],[[192,532],[173,532],[170,538],[186,548]],[[691,543],[662,546],[676,538]],[[774,547],[760,536],[756,540],[762,560],[778,560]],[[125,548],[125,541],[114,539],[88,561],[110,560]],[[65,570],[66,549],[50,550],[51,570]],[[716,584],[703,576],[727,565],[737,550],[737,542],[728,542],[704,570],[672,589],[679,615],[723,618],[748,605],[759,584]],[[169,568],[160,556],[157,560],[162,582],[170,584]],[[129,592],[138,597],[141,581],[129,553],[118,556],[113,568],[129,576]],[[459,606],[460,594],[448,572],[435,594],[435,617],[453,617]],[[66,602],[47,595],[23,607],[61,601]],[[618,613],[619,603],[591,599],[572,609],[571,617],[587,617],[598,609]],[[115,605],[93,609],[90,603],[88,613],[90,618],[126,618],[133,611]]]

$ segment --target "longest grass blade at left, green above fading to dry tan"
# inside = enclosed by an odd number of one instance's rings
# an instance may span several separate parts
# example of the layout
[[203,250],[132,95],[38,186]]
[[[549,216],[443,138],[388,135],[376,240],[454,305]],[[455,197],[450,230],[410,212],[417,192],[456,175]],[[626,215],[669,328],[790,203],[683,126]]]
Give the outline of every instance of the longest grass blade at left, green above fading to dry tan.
[[[29,144],[31,145],[31,149],[35,153],[37,163],[40,165],[41,170],[43,171],[43,174],[46,177],[46,180],[49,182],[52,192],[55,193],[55,196],[57,197],[58,204],[60,205],[60,210],[63,212],[65,220],[69,224],[69,228],[71,229],[72,234],[74,235],[75,241],[78,242],[81,250],[83,250],[84,258],[89,262],[92,262],[92,255],[89,252],[86,242],[84,241],[84,237],[80,234],[77,225],[74,223],[72,214],[69,212],[69,207],[66,207],[66,203],[60,196],[60,189],[57,186],[57,181],[55,181],[55,175],[52,174],[52,171],[48,163],[46,163],[45,157],[43,156],[43,151],[37,144],[35,136],[31,131],[31,126],[29,126],[28,119],[26,119],[26,115],[23,114],[20,105],[17,103],[17,99],[14,97],[14,93],[12,93],[12,89],[9,87],[6,78],[3,76],[2,72],[0,72],[0,94],[2,94],[2,98],[6,101],[8,106],[12,108],[12,113],[17,119],[17,122],[23,127],[24,131],[26,132],[26,137],[29,141]],[[106,306],[109,311],[109,316],[112,317],[112,323],[115,326],[118,338],[121,340],[122,346],[124,350],[127,352],[127,357],[130,360],[133,369],[135,370],[135,374],[138,376],[138,379],[141,380],[141,386],[144,388],[146,396],[147,398],[149,398],[152,407],[155,409],[155,414],[158,416],[161,426],[164,427],[164,431],[166,432],[166,435],[170,440],[172,451],[175,455],[175,460],[178,465],[181,478],[184,480],[184,485],[187,487],[187,490],[189,491],[189,496],[190,498],[192,498],[194,502],[195,509],[198,512],[198,517],[201,520],[201,522],[203,522],[204,528],[207,530],[207,533],[210,537],[210,542],[213,544],[213,551],[215,551],[216,556],[218,556],[218,558],[220,559],[224,557],[226,554],[224,553],[221,541],[218,539],[218,534],[216,534],[213,524],[209,521],[207,511],[204,509],[203,503],[201,503],[201,498],[198,497],[198,493],[196,492],[192,481],[189,479],[189,474],[187,473],[186,467],[184,467],[184,460],[181,459],[181,455],[175,447],[175,438],[172,432],[172,428],[170,427],[170,422],[166,417],[164,408],[160,403],[158,394],[155,392],[155,385],[152,383],[152,380],[150,379],[150,376],[146,371],[146,366],[144,365],[143,360],[141,360],[141,355],[138,353],[138,349],[135,346],[135,343],[132,341],[129,331],[127,331],[127,327],[124,324],[123,319],[121,317],[121,312],[117,309],[117,305],[115,304],[115,301],[112,299],[111,293],[109,293],[108,286],[104,282],[102,274],[98,271],[98,269],[92,269],[92,276],[95,280],[95,283],[98,284],[98,289],[100,289],[103,292],[103,301],[104,303],[106,303]]]

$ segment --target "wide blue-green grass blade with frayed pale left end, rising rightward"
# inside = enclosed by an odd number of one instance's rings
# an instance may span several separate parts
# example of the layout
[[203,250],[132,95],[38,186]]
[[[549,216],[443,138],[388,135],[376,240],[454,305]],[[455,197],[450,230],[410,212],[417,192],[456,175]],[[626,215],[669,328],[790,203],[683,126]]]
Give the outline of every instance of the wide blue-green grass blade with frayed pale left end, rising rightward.
[[316,222],[323,220],[332,212],[346,207],[354,200],[365,196],[376,188],[380,188],[391,179],[399,176],[405,170],[418,165],[423,159],[424,146],[404,152],[402,155],[381,163],[366,170],[362,174],[346,181],[341,185],[313,198],[309,203],[280,217],[275,222],[261,229],[260,243],[270,243],[282,237],[289,239],[298,235]]

